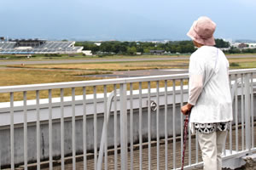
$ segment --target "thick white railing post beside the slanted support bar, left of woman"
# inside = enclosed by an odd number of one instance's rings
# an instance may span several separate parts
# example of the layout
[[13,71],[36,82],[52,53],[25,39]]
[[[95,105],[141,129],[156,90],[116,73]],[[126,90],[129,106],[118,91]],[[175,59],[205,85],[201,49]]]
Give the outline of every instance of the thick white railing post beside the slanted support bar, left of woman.
[[121,169],[127,170],[127,96],[126,83],[120,84]]

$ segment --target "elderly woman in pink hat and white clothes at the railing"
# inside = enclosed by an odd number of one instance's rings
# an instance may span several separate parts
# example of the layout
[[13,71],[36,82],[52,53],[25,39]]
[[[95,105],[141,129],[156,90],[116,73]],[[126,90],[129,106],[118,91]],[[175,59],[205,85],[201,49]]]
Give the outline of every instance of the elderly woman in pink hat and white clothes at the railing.
[[222,168],[222,150],[233,119],[229,61],[213,47],[215,28],[216,24],[203,16],[187,33],[198,49],[189,59],[189,100],[181,109],[183,114],[191,111],[189,124],[192,133],[198,131],[205,170]]

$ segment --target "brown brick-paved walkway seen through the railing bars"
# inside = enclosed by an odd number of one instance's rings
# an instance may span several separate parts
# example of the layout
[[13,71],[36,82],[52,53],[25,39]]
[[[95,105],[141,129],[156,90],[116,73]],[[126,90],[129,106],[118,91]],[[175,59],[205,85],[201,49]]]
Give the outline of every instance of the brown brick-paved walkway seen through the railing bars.
[[[232,130],[232,150],[236,150],[236,131],[233,129]],[[255,126],[255,130],[254,130],[254,141],[256,142],[256,126]],[[151,169],[157,169],[157,150],[156,150],[156,146],[155,146],[155,141],[152,141],[152,146],[151,146]],[[195,143],[195,138],[192,137],[191,139],[191,164],[195,164],[196,161],[197,162],[201,162],[201,151],[199,149],[199,153],[198,153],[198,157],[195,155],[196,151],[195,151],[195,147],[196,143]],[[230,139],[229,139],[229,134],[227,136],[227,142],[226,142],[226,150],[229,150],[230,147]],[[172,169],[173,168],[173,153],[172,153],[172,148],[173,148],[173,143],[172,143],[172,139],[169,139],[168,141],[168,169]],[[239,150],[241,150],[241,129],[239,129]],[[181,154],[180,154],[180,150],[181,150],[181,143],[180,141],[176,141],[176,153],[175,153],[175,163],[176,163],[176,167],[180,167],[181,166]],[[114,156],[111,155],[111,153],[113,153],[113,150],[109,150],[108,151],[108,169],[114,169]],[[129,152],[129,160],[128,160],[128,169],[130,169],[131,166],[131,152]],[[138,144],[136,144],[134,146],[134,156],[133,156],[133,169],[139,169],[139,148],[138,148]],[[166,156],[165,156],[165,141],[164,140],[160,140],[160,169],[166,169]],[[83,163],[83,158],[82,156],[77,159],[77,163],[76,163],[76,169],[84,169],[84,163]],[[104,161],[104,159],[103,159]],[[118,155],[118,169],[120,169],[120,155]],[[185,156],[185,165],[189,165],[189,145],[187,144],[187,149],[186,149],[186,156]],[[72,160],[68,160],[65,163],[65,169],[67,170],[71,170],[72,169]],[[102,165],[102,167],[104,167],[104,164]],[[45,168],[48,169],[48,168]],[[55,170],[61,169],[61,166],[55,166],[54,167]],[[90,159],[87,161],[87,169],[91,170],[94,169],[94,159],[93,156],[90,156]],[[143,144],[143,169],[148,169],[148,144]],[[202,169],[202,166],[199,167],[194,167],[193,169]]]

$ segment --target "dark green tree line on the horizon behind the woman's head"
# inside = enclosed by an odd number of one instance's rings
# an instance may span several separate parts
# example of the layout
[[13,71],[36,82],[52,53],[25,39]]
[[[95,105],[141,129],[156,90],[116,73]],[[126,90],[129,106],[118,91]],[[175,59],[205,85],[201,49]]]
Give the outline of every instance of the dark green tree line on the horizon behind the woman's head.
[[[91,50],[92,54],[149,54],[150,50],[164,50],[172,54],[191,54],[196,48],[192,41],[169,41],[169,42],[119,42],[107,41],[97,45],[96,42],[76,42],[76,46],[83,46],[84,50]],[[229,48],[230,42],[216,39],[216,47]]]

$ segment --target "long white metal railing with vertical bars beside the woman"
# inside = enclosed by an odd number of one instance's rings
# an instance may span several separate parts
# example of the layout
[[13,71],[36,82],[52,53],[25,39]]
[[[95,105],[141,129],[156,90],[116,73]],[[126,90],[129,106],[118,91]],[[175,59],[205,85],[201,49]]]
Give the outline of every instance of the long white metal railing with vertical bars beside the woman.
[[[256,69],[230,71],[234,121],[224,159],[256,150],[255,73]],[[42,163],[53,169],[59,162],[65,169],[70,159],[73,169],[178,169],[183,152],[180,106],[187,100],[188,79],[188,74],[179,74],[0,87],[0,95],[9,94],[9,101],[0,104],[0,168],[27,169],[28,162],[36,161],[38,169]],[[53,98],[55,89],[60,93]],[[71,89],[71,98],[64,97],[66,89]],[[45,90],[43,108],[40,92]],[[28,105],[31,91],[36,97]],[[20,92],[21,105],[15,101]],[[189,132],[188,138],[186,168],[201,165],[197,135]]]

